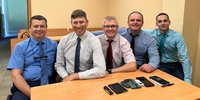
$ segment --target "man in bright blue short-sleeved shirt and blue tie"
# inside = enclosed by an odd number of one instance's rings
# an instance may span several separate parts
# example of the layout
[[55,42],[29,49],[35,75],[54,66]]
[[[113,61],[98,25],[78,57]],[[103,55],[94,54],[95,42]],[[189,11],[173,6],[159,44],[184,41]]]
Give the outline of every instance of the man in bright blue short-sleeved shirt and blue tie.
[[[30,100],[31,87],[42,84],[42,69],[45,69],[43,74],[48,74],[44,78],[48,80],[47,84],[52,82],[50,77],[53,75],[57,43],[45,37],[46,18],[41,15],[33,16],[30,20],[30,32],[30,38],[16,44],[8,63],[7,69],[11,70],[13,82],[12,100]],[[38,43],[42,45],[45,56],[40,55],[41,45]],[[42,60],[47,66],[43,67]]]

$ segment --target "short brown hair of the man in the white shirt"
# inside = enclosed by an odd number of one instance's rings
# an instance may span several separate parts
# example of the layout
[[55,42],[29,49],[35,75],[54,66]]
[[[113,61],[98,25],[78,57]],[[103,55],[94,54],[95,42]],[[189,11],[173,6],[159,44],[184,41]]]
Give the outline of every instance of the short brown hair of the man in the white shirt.
[[87,15],[85,11],[81,9],[74,10],[71,14],[71,19],[77,18],[77,17],[84,17],[87,20]]

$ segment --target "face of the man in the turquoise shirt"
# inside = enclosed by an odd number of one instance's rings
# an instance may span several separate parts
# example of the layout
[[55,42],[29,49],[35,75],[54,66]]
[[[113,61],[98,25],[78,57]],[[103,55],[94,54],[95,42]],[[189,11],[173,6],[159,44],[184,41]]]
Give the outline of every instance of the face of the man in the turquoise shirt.
[[166,15],[160,15],[156,19],[156,25],[161,33],[166,33],[169,29],[170,20]]

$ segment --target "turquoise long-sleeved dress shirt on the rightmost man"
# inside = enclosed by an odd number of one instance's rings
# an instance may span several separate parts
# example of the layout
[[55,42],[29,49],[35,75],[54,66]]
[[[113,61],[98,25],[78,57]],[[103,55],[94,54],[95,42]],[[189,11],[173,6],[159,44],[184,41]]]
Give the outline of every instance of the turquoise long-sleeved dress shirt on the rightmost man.
[[[160,43],[161,33],[158,29],[146,30],[147,33],[153,35],[157,41],[157,45]],[[184,72],[184,81],[191,83],[192,66],[187,55],[187,47],[183,37],[180,33],[169,29],[166,33],[166,39],[164,42],[164,51],[161,55],[161,63],[168,62],[181,62]]]

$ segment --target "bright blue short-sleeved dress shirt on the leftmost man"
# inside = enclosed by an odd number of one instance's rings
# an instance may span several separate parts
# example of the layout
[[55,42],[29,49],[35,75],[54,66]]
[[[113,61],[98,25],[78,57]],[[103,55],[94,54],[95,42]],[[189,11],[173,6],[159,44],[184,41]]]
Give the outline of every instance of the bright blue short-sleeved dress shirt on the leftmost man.
[[[45,38],[43,40],[43,48],[47,56],[48,75],[52,75],[55,63],[57,43],[53,40]],[[27,81],[40,80],[41,63],[39,59],[39,45],[37,41],[31,37],[16,44],[8,63],[8,70],[22,70],[22,76]]]

